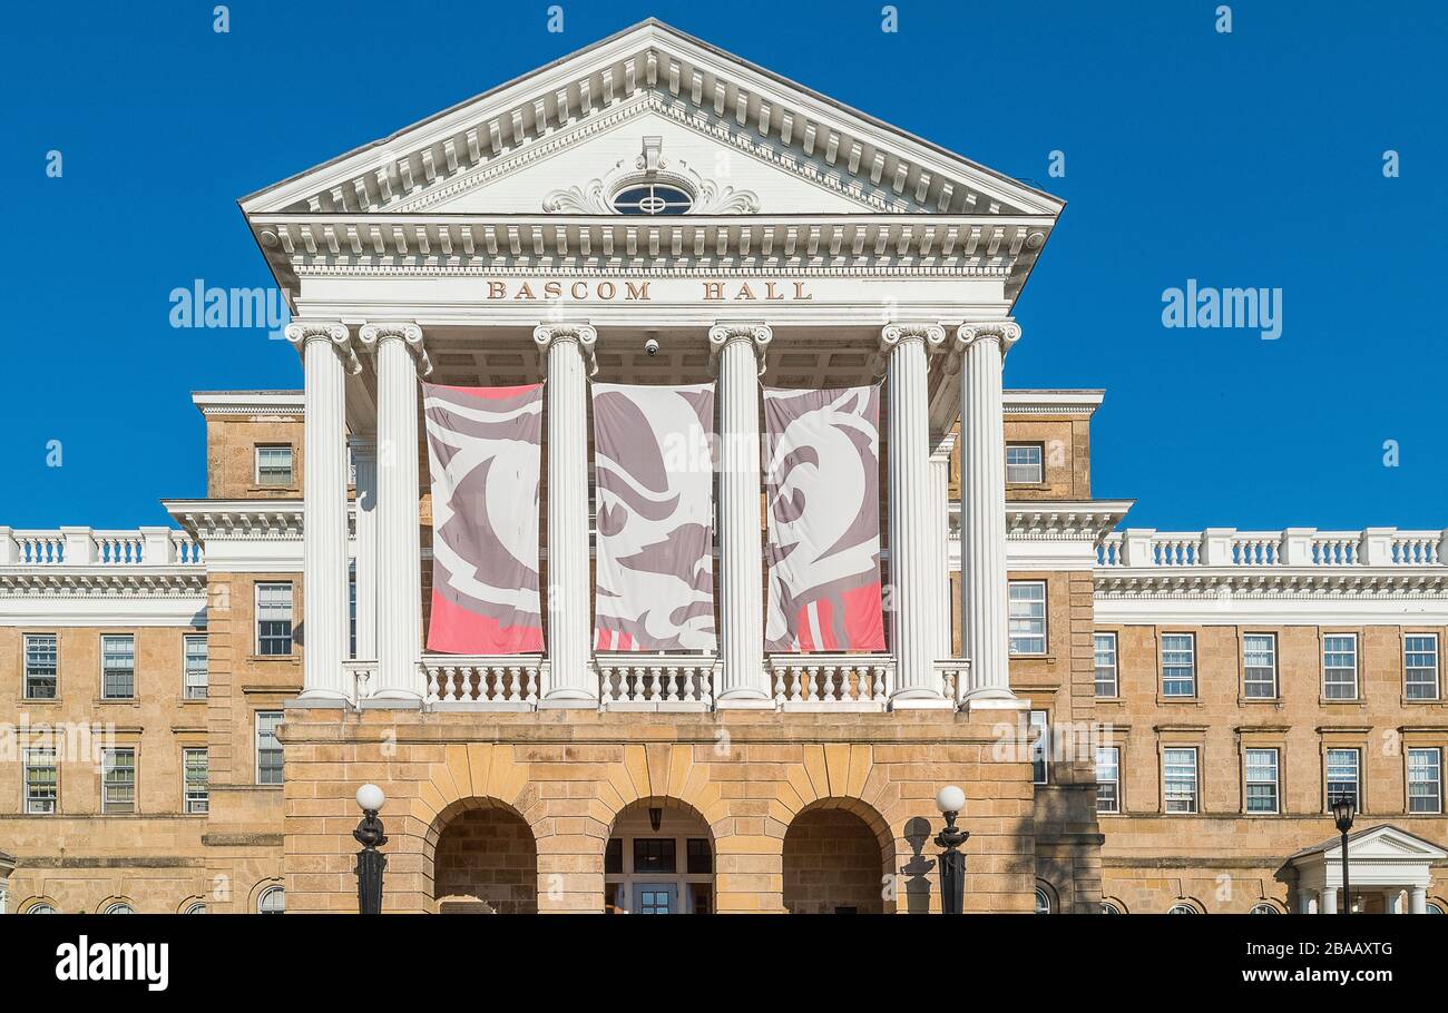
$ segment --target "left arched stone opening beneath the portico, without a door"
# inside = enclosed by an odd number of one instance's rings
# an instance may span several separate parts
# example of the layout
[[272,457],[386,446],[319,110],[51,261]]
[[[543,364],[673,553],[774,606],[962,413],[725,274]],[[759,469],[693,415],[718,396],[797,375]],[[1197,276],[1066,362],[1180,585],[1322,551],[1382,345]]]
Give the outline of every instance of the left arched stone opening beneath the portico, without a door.
[[489,799],[469,799],[437,822],[433,902],[439,913],[537,913],[537,842],[523,816]]

